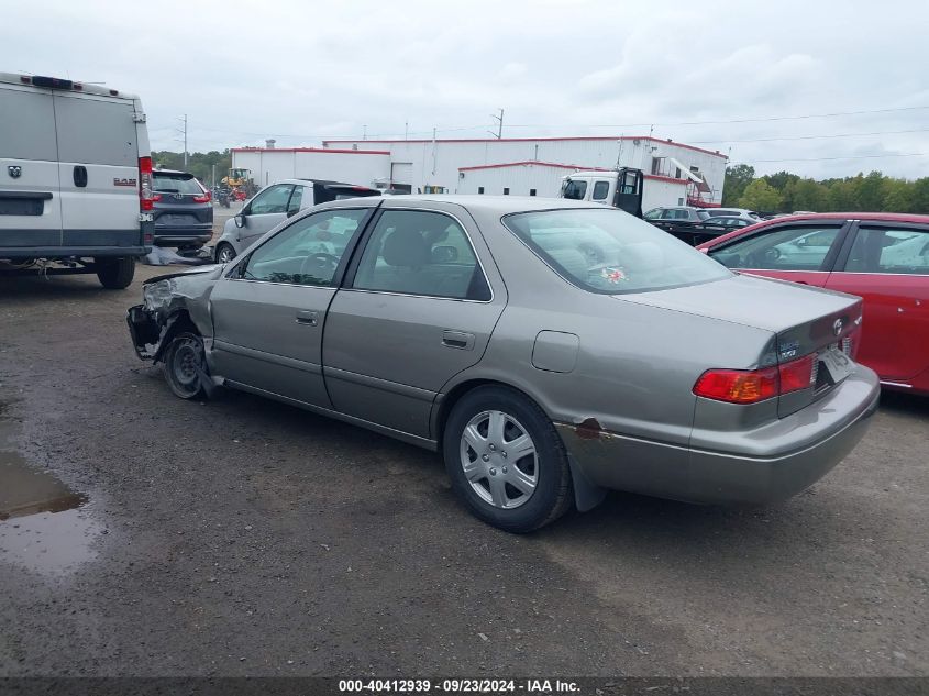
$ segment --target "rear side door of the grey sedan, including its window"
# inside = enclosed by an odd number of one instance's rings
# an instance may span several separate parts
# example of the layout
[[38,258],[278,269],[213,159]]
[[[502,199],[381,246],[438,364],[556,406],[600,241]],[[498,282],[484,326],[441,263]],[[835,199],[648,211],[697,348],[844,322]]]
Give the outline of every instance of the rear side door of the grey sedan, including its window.
[[435,395],[480,360],[506,305],[473,221],[430,208],[381,208],[323,346],[336,410],[421,438]]

